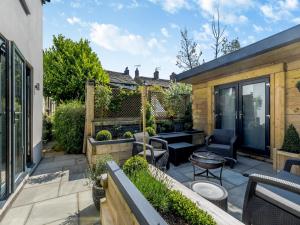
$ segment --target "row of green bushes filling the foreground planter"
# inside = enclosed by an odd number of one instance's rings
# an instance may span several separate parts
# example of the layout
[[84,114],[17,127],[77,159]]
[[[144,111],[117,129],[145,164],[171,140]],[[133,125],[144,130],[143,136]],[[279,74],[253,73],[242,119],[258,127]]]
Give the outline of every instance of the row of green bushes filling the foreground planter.
[[180,192],[170,190],[166,177],[150,173],[144,158],[134,156],[128,159],[123,171],[160,213],[177,215],[191,225],[216,225],[212,216],[201,210],[196,203]]

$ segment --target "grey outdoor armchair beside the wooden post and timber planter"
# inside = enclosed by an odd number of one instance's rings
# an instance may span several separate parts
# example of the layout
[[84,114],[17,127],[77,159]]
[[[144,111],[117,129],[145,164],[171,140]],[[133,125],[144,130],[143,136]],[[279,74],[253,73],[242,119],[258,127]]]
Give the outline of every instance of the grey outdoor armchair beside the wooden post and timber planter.
[[[144,155],[143,132],[134,134],[135,142],[133,143],[132,155]],[[149,137],[146,132],[146,159],[149,163],[159,169],[166,170],[169,168],[169,148],[168,142],[159,138]]]

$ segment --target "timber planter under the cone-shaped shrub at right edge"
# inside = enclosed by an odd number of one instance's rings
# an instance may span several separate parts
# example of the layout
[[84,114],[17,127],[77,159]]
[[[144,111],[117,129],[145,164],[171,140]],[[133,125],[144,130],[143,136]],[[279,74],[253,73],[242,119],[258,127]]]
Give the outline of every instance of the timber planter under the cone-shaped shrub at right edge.
[[[300,154],[285,152],[276,148],[273,149],[273,169],[283,170],[287,159],[300,159]],[[291,172],[300,175],[299,166],[293,166]]]

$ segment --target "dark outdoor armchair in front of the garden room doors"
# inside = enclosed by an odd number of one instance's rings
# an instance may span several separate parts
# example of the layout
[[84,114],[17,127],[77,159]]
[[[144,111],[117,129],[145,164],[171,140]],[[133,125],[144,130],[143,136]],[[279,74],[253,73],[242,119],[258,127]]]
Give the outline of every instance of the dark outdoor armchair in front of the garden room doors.
[[231,167],[236,162],[237,137],[234,130],[215,129],[212,135],[205,138],[205,144],[208,151],[230,160]]

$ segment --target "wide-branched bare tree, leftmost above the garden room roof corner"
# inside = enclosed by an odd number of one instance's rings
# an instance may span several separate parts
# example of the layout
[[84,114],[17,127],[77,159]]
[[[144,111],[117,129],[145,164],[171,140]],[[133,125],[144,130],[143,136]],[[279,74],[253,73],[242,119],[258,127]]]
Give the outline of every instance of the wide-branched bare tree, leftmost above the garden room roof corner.
[[181,34],[181,50],[178,52],[176,66],[183,70],[193,69],[199,66],[199,59],[202,52],[197,49],[198,44],[188,36],[188,31],[185,28],[180,31]]

